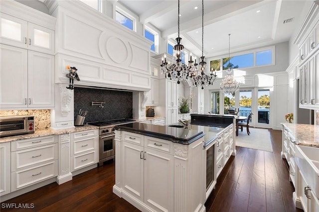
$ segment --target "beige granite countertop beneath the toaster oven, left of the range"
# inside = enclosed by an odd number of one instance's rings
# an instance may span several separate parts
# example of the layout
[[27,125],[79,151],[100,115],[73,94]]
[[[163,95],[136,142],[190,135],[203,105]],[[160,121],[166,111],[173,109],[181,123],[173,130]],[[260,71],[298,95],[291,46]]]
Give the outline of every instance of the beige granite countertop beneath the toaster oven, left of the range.
[[18,140],[23,140],[23,139],[33,139],[33,138],[43,137],[43,136],[62,135],[62,134],[81,132],[81,131],[86,131],[86,130],[93,130],[93,129],[99,129],[99,128],[96,126],[92,126],[92,125],[85,125],[85,126],[81,126],[81,127],[61,129],[61,130],[52,130],[52,129],[37,130],[33,134],[1,137],[0,143],[10,142],[10,141],[18,141]]

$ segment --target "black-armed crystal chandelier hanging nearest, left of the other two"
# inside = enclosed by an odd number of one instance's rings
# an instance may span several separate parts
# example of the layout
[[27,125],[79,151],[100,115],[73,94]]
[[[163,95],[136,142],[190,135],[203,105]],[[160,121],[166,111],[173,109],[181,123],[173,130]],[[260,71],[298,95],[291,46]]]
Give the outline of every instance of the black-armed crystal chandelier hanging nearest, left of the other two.
[[181,54],[184,53],[184,46],[181,44],[181,38],[179,37],[179,0],[177,20],[178,37],[175,39],[176,45],[173,47],[173,61],[176,62],[170,64],[166,61],[166,54],[164,54],[164,57],[161,58],[160,70],[165,74],[165,78],[177,81],[177,84],[179,84],[180,80],[188,79],[191,73],[197,68],[196,60],[195,62],[192,61],[191,57],[188,61],[188,66],[181,62]]

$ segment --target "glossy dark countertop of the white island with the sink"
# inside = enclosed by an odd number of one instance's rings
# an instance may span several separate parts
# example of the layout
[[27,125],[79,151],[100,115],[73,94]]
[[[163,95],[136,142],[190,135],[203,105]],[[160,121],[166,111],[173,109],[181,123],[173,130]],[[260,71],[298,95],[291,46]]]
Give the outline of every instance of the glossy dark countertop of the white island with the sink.
[[[179,123],[171,124],[179,125]],[[115,126],[115,130],[137,133],[163,140],[168,140],[181,144],[190,144],[199,138],[204,137],[206,145],[214,141],[225,127],[211,127],[189,124],[187,128],[169,127],[171,125],[160,126],[145,123],[131,123]]]

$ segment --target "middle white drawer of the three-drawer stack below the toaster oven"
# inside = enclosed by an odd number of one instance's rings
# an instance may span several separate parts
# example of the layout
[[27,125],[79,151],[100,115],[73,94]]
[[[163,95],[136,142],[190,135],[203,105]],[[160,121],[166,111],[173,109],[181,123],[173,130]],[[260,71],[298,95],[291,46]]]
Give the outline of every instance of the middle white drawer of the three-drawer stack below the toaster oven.
[[53,143],[11,152],[11,171],[58,158],[58,144]]

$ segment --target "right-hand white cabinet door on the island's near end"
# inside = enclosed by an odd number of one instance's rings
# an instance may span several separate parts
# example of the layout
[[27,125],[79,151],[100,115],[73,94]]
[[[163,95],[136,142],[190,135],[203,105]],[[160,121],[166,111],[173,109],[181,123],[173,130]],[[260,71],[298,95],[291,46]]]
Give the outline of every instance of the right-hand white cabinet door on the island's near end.
[[173,155],[145,148],[144,202],[155,211],[173,211]]

